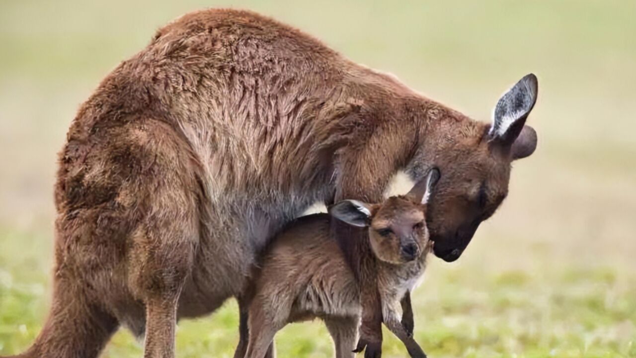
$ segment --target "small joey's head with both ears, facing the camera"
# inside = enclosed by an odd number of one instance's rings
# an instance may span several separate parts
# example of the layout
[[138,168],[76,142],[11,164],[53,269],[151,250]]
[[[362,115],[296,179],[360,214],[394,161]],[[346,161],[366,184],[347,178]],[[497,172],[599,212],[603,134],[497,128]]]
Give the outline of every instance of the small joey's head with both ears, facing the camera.
[[392,196],[379,204],[343,200],[329,213],[347,224],[368,227],[371,249],[378,259],[402,264],[425,254],[429,245],[426,210],[439,180],[432,168],[405,196]]

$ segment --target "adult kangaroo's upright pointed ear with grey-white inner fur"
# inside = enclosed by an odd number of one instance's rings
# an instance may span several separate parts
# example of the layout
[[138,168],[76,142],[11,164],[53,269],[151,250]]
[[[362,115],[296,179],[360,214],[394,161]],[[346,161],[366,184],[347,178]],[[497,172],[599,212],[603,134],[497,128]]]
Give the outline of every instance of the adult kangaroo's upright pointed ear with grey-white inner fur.
[[537,77],[530,73],[501,96],[495,106],[493,124],[488,132],[491,141],[501,145],[512,145],[515,142],[537,101],[538,89]]

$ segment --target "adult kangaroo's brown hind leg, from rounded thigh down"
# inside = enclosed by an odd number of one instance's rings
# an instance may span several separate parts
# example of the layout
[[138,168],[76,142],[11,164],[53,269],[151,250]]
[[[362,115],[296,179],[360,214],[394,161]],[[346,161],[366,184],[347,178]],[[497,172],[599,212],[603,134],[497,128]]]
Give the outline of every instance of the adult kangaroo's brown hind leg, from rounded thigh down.
[[134,148],[121,201],[134,217],[127,247],[127,284],[146,310],[144,357],[174,357],[177,303],[190,275],[200,234],[200,174],[188,145],[154,120],[131,124]]

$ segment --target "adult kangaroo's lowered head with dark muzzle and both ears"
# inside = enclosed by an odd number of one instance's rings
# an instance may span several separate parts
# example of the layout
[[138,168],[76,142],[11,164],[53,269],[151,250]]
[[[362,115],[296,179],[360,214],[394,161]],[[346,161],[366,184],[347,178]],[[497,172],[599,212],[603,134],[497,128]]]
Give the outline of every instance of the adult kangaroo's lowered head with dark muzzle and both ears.
[[499,99],[492,124],[442,118],[430,125],[406,172],[415,180],[431,166],[443,173],[427,211],[436,256],[457,260],[508,195],[511,162],[537,145],[536,132],[525,125],[536,99],[537,78],[530,74]]

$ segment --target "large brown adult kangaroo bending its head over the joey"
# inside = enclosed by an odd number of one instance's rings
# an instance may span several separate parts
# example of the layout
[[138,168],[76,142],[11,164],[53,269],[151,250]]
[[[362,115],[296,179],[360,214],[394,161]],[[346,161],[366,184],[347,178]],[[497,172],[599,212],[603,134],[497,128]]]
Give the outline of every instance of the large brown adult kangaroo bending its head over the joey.
[[[459,257],[536,147],[525,76],[476,122],[249,11],[204,10],[160,29],[106,76],[59,155],[48,319],[20,357],[96,357],[118,326],[173,357],[180,317],[241,297],[259,252],[316,201],[379,202],[392,176],[441,171],[427,224]],[[366,233],[333,222],[361,280],[361,344],[382,314]]]

